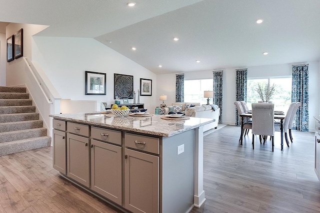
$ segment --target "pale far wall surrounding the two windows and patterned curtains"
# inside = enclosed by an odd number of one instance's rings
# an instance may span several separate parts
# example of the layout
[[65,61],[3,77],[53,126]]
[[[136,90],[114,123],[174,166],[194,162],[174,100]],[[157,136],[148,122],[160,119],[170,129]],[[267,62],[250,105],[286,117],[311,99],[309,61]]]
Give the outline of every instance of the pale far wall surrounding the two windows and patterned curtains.
[[[308,63],[309,67],[309,130],[314,130],[313,116],[319,114],[320,87],[319,61],[303,62]],[[295,63],[295,64],[302,64]],[[243,68],[243,67],[239,67]],[[248,78],[261,78],[270,76],[290,76],[292,75],[292,64],[278,64],[268,66],[246,67]],[[235,69],[226,68],[223,70],[223,99],[222,99],[222,123],[235,124]],[[212,70],[196,71],[184,73],[185,80],[212,78]],[[168,97],[168,103],[175,100],[175,74],[161,74],[157,76],[158,92],[165,93]],[[159,93],[157,95],[159,95]],[[172,98],[171,98],[172,97]],[[170,98],[170,99],[169,99]]]

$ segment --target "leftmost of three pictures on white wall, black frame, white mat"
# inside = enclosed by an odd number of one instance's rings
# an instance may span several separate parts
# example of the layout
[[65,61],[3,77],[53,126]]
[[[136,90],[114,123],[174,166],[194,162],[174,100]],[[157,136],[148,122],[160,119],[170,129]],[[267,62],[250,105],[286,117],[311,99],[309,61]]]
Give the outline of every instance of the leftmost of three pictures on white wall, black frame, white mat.
[[105,95],[106,74],[85,71],[85,95]]

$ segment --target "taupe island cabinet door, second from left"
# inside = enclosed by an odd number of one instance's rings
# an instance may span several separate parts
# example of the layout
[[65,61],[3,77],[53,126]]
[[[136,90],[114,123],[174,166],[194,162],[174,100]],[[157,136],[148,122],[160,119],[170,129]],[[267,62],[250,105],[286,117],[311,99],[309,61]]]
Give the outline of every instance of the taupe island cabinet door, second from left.
[[89,139],[67,133],[67,176],[89,187]]

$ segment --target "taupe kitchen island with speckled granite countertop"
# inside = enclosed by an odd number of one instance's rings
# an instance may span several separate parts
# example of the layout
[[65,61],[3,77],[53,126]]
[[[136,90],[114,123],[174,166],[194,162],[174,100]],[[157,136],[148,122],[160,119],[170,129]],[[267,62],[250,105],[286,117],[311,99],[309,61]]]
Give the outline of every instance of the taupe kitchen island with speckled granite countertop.
[[203,125],[214,119],[53,117],[53,168],[118,209],[185,213],[205,201]]

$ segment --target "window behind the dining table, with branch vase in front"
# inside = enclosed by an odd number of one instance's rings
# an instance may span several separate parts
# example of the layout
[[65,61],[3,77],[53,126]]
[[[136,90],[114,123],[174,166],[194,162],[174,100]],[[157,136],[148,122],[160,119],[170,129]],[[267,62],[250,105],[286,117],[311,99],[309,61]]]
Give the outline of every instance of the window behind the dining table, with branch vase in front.
[[286,112],[291,103],[291,77],[247,79],[246,104],[248,108],[251,109],[251,103],[257,103],[261,100],[258,93],[255,91],[257,84],[268,82],[270,85],[275,85],[275,91],[271,99],[272,103],[274,103],[274,110]]

